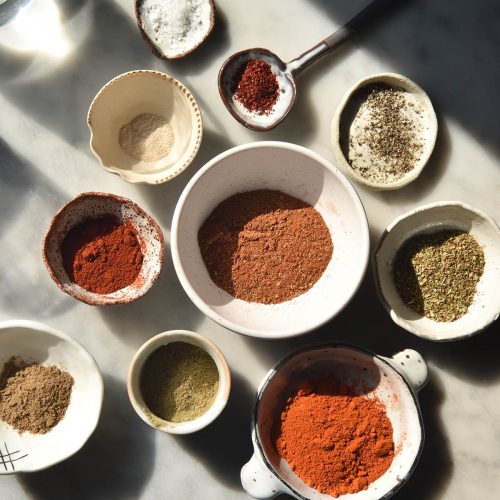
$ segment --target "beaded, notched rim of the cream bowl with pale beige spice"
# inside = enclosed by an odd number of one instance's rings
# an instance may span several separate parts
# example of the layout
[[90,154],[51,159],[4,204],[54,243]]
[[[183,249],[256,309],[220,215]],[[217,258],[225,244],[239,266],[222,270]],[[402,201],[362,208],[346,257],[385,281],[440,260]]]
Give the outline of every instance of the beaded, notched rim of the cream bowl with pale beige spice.
[[[94,129],[92,128],[92,115],[94,113],[94,109],[96,105],[99,103],[101,97],[104,95],[105,92],[107,92],[109,89],[113,87],[117,82],[128,78],[128,77],[135,77],[139,75],[149,75],[149,76],[155,76],[159,77],[163,80],[166,80],[169,83],[172,83],[174,86],[178,87],[181,90],[181,93],[187,98],[189,101],[189,104],[191,108],[194,111],[195,117],[196,117],[196,122],[193,120],[192,121],[192,129],[195,132],[196,138],[194,140],[194,146],[193,150],[191,151],[191,154],[189,157],[186,159],[186,161],[179,167],[177,168],[174,172],[170,173],[169,175],[162,177],[157,180],[147,180],[146,178],[142,178],[144,174],[140,174],[140,178],[135,178],[135,177],[130,177],[128,174],[127,170],[124,170],[116,165],[108,165],[104,163],[101,155],[98,153],[98,151],[94,148]],[[198,151],[201,146],[201,141],[203,138],[203,118],[200,110],[200,106],[198,105],[198,102],[194,98],[193,93],[179,80],[174,78],[173,76],[169,75],[168,73],[163,73],[161,71],[156,71],[156,70],[150,70],[150,69],[137,69],[133,71],[127,71],[125,73],[121,73],[120,75],[115,76],[112,78],[108,83],[106,83],[100,90],[99,92],[95,95],[94,99],[92,99],[92,102],[90,103],[90,107],[87,113],[87,126],[90,129],[90,149],[92,153],[94,153],[94,156],[99,160],[99,163],[101,167],[113,174],[119,175],[124,181],[129,182],[131,184],[163,184],[164,182],[170,181],[177,177],[179,174],[184,172],[189,165],[193,162],[195,159],[196,155],[198,154]]]

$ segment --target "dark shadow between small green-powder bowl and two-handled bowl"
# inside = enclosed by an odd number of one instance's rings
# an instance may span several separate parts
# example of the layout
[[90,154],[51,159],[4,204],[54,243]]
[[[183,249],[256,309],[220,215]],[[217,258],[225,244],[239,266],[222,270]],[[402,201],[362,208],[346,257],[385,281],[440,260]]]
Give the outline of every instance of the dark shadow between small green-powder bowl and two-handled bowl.
[[231,394],[220,417],[206,429],[175,439],[217,481],[241,491],[241,467],[253,452],[250,420],[255,391],[238,373],[232,371],[231,377]]

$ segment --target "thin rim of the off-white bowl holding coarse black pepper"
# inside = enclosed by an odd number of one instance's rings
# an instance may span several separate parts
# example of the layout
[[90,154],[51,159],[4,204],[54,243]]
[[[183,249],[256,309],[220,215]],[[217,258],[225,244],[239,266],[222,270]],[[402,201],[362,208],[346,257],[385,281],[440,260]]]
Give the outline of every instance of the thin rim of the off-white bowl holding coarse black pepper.
[[[426,107],[431,113],[431,122],[432,122],[431,123],[432,135],[429,136],[429,139],[426,141],[428,147],[425,151],[425,154],[420,158],[417,165],[410,172],[408,172],[402,178],[397,179],[396,181],[390,183],[371,181],[359,175],[345,159],[345,155],[340,146],[340,121],[342,118],[342,114],[345,110],[345,107],[349,102],[349,100],[351,99],[352,95],[365,85],[368,85],[370,83],[376,83],[378,81],[380,83],[384,83],[386,79],[397,80],[400,82],[401,87],[403,87],[405,90],[411,90],[412,93],[419,94],[420,97],[425,101]],[[436,145],[437,133],[438,133],[438,121],[437,121],[436,111],[434,110],[432,101],[430,100],[425,90],[422,87],[420,87],[420,85],[418,85],[413,80],[404,75],[401,75],[399,73],[384,72],[384,73],[375,73],[373,75],[365,76],[360,80],[358,80],[354,85],[352,85],[347,90],[333,116],[330,137],[335,158],[338,161],[339,168],[342,170],[342,172],[344,172],[344,174],[346,174],[348,177],[350,177],[357,183],[365,187],[368,187],[374,191],[389,191],[394,189],[400,189],[404,186],[407,186],[422,173],[424,167],[429,162],[432,153],[434,151],[434,146]]]

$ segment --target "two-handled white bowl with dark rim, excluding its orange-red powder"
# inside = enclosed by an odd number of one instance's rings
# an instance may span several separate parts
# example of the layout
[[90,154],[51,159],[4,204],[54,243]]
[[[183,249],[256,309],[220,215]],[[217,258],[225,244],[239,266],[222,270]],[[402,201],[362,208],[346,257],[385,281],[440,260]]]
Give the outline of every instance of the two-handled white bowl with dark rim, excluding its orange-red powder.
[[254,454],[241,470],[243,488],[255,498],[286,493],[301,500],[331,500],[306,485],[281,458],[273,444],[272,427],[291,388],[319,367],[346,383],[366,383],[385,405],[393,427],[396,453],[387,471],[366,490],[338,498],[389,498],[410,477],[424,444],[424,428],[416,392],[427,382],[428,370],[420,354],[411,350],[392,358],[348,344],[331,342],[302,347],[284,357],[268,372],[257,390],[252,412]]

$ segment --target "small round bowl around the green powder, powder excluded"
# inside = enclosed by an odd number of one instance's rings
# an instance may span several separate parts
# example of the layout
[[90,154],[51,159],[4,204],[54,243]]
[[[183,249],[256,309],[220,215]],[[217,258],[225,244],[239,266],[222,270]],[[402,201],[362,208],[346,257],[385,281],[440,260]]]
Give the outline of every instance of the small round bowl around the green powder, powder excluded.
[[[148,357],[159,347],[172,342],[186,342],[203,349],[210,354],[219,372],[219,390],[212,406],[200,417],[187,422],[168,422],[153,415],[146,406],[140,389],[141,372]],[[169,434],[191,434],[211,424],[221,414],[231,390],[231,372],[222,352],[206,337],[187,330],[170,330],[149,339],[135,353],[128,371],[127,390],[134,410],[148,425]]]

